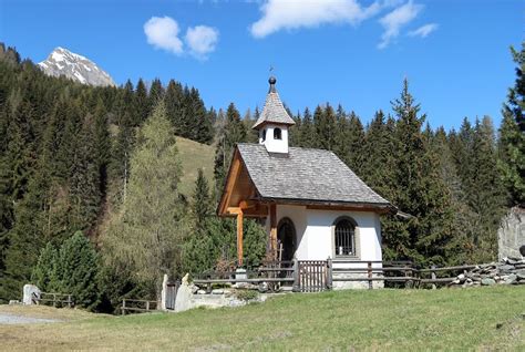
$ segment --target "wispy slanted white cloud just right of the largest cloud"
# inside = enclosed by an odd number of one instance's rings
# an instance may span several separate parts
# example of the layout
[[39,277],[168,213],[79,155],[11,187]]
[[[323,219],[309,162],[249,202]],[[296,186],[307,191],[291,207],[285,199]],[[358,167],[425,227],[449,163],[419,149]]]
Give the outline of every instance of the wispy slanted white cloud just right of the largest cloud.
[[379,22],[383,25],[384,32],[381,35],[381,42],[378,44],[378,48],[387,48],[390,41],[399,35],[401,28],[415,19],[422,9],[422,4],[409,1],[382,17]]

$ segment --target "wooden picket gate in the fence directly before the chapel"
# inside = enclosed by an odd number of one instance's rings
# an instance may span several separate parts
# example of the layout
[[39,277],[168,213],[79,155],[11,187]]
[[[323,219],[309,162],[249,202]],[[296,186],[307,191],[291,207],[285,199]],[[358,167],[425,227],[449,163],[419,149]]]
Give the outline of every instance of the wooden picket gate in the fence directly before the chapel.
[[326,260],[298,261],[298,288],[300,292],[319,292],[328,289],[328,262]]

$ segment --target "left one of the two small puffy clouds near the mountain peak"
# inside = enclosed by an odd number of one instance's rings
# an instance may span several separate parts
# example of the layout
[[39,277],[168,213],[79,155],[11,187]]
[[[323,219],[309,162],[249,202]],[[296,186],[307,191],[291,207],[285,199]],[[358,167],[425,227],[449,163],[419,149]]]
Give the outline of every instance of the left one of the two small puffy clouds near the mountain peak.
[[178,23],[169,17],[152,17],[144,23],[147,42],[155,48],[164,49],[174,54],[182,54],[183,42],[178,39]]

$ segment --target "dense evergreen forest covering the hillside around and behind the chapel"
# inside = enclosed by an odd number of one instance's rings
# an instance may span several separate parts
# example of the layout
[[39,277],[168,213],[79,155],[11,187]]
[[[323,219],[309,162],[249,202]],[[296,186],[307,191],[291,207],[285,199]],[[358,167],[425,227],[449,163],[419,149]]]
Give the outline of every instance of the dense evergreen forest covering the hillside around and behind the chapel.
[[[292,146],[332,151],[402,211],[382,218],[384,260],[496,259],[502,217],[525,205],[525,43],[509,60],[501,116],[457,130],[431,126],[406,80],[373,116],[331,103],[289,111]],[[122,298],[158,297],[163,273],[229,266],[236,225],[216,205],[236,143],[257,142],[259,113],[208,108],[175,80],[93,87],[47,76],[1,43],[0,302],[32,282],[113,312]],[[189,195],[178,191],[177,136],[216,151],[214,179],[200,170]],[[244,231],[246,262],[258,265],[267,235],[255,220]]]

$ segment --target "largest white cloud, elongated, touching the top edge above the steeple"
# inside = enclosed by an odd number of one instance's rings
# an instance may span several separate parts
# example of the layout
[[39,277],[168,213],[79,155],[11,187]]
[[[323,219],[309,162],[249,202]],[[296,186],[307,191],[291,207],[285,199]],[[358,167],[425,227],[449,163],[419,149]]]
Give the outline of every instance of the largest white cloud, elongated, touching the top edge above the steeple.
[[[390,2],[390,1],[387,1]],[[378,1],[363,8],[357,0],[268,0],[251,34],[264,38],[280,30],[312,28],[325,23],[358,24],[383,8]]]

